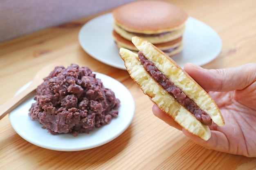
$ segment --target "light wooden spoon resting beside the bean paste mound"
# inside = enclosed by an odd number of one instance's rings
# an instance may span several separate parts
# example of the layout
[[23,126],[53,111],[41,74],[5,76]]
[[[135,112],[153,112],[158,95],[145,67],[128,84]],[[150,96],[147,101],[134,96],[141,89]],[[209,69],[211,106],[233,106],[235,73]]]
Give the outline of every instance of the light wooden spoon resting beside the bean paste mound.
[[40,69],[34,79],[32,80],[31,84],[22,92],[18,93],[16,96],[13,96],[7,102],[0,106],[0,120],[7,115],[7,113],[11,112],[14,108],[19,106],[22,102],[25,101],[28,97],[31,97],[34,94],[34,90],[43,83],[43,78],[47,77],[51,71],[54,70],[56,66],[65,66],[66,64],[58,64],[52,63],[49,64],[42,69]]

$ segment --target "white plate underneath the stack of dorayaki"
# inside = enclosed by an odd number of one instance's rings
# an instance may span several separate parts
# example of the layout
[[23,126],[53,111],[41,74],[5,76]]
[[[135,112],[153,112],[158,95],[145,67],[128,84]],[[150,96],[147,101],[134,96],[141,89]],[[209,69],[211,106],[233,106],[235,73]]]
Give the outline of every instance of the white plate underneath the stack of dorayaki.
[[[112,14],[100,15],[82,26],[79,43],[83,50],[96,60],[110,66],[124,69],[124,61],[112,38]],[[204,65],[218,56],[222,49],[220,36],[210,26],[189,17],[183,35],[184,49],[172,58],[182,68],[187,62]]]

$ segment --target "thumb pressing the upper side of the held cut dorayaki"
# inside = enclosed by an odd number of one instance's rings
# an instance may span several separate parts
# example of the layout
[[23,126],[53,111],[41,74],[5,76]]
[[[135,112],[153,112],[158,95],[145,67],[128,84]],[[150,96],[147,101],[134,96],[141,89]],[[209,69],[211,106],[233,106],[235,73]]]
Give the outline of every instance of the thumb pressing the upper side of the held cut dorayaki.
[[256,63],[210,70],[187,63],[184,70],[206,91],[242,90],[256,81]]

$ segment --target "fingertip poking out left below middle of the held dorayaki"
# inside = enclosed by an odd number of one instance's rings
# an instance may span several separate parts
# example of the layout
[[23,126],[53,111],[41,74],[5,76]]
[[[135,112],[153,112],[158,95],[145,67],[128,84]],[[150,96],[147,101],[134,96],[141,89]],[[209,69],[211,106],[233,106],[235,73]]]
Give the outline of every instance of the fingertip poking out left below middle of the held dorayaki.
[[182,130],[182,127],[179,124],[177,124],[177,122],[174,121],[173,118],[171,118],[169,115],[164,113],[161,109],[159,109],[157,107],[157,105],[155,105],[155,104],[153,105],[152,111],[156,117],[158,117],[159,119],[162,119],[166,124],[173,126],[174,128],[176,128],[178,130]]

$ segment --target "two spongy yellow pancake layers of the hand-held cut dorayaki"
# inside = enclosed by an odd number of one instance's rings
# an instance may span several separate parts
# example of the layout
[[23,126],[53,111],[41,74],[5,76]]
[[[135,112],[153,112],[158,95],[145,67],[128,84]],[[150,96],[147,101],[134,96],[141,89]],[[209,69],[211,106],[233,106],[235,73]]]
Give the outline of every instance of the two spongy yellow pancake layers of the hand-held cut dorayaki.
[[[133,37],[132,43],[143,53],[145,60],[152,62],[153,66],[176,86],[175,90],[178,87],[187,97],[193,100],[197,107],[209,115],[215,124],[218,126],[225,125],[220,110],[213,99],[171,57],[168,57],[156,46],[139,37]],[[174,94],[170,94],[160,82],[157,82],[152,73],[143,66],[138,54],[121,48],[119,55],[124,60],[130,77],[139,85],[144,94],[151,97],[152,101],[161,110],[172,117],[184,129],[201,139],[208,140],[211,137],[209,126],[202,124],[188,108],[180,104]],[[150,68],[156,71],[155,68]],[[157,72],[157,75],[160,75],[160,73]],[[194,104],[189,105],[189,107],[195,107]]]

